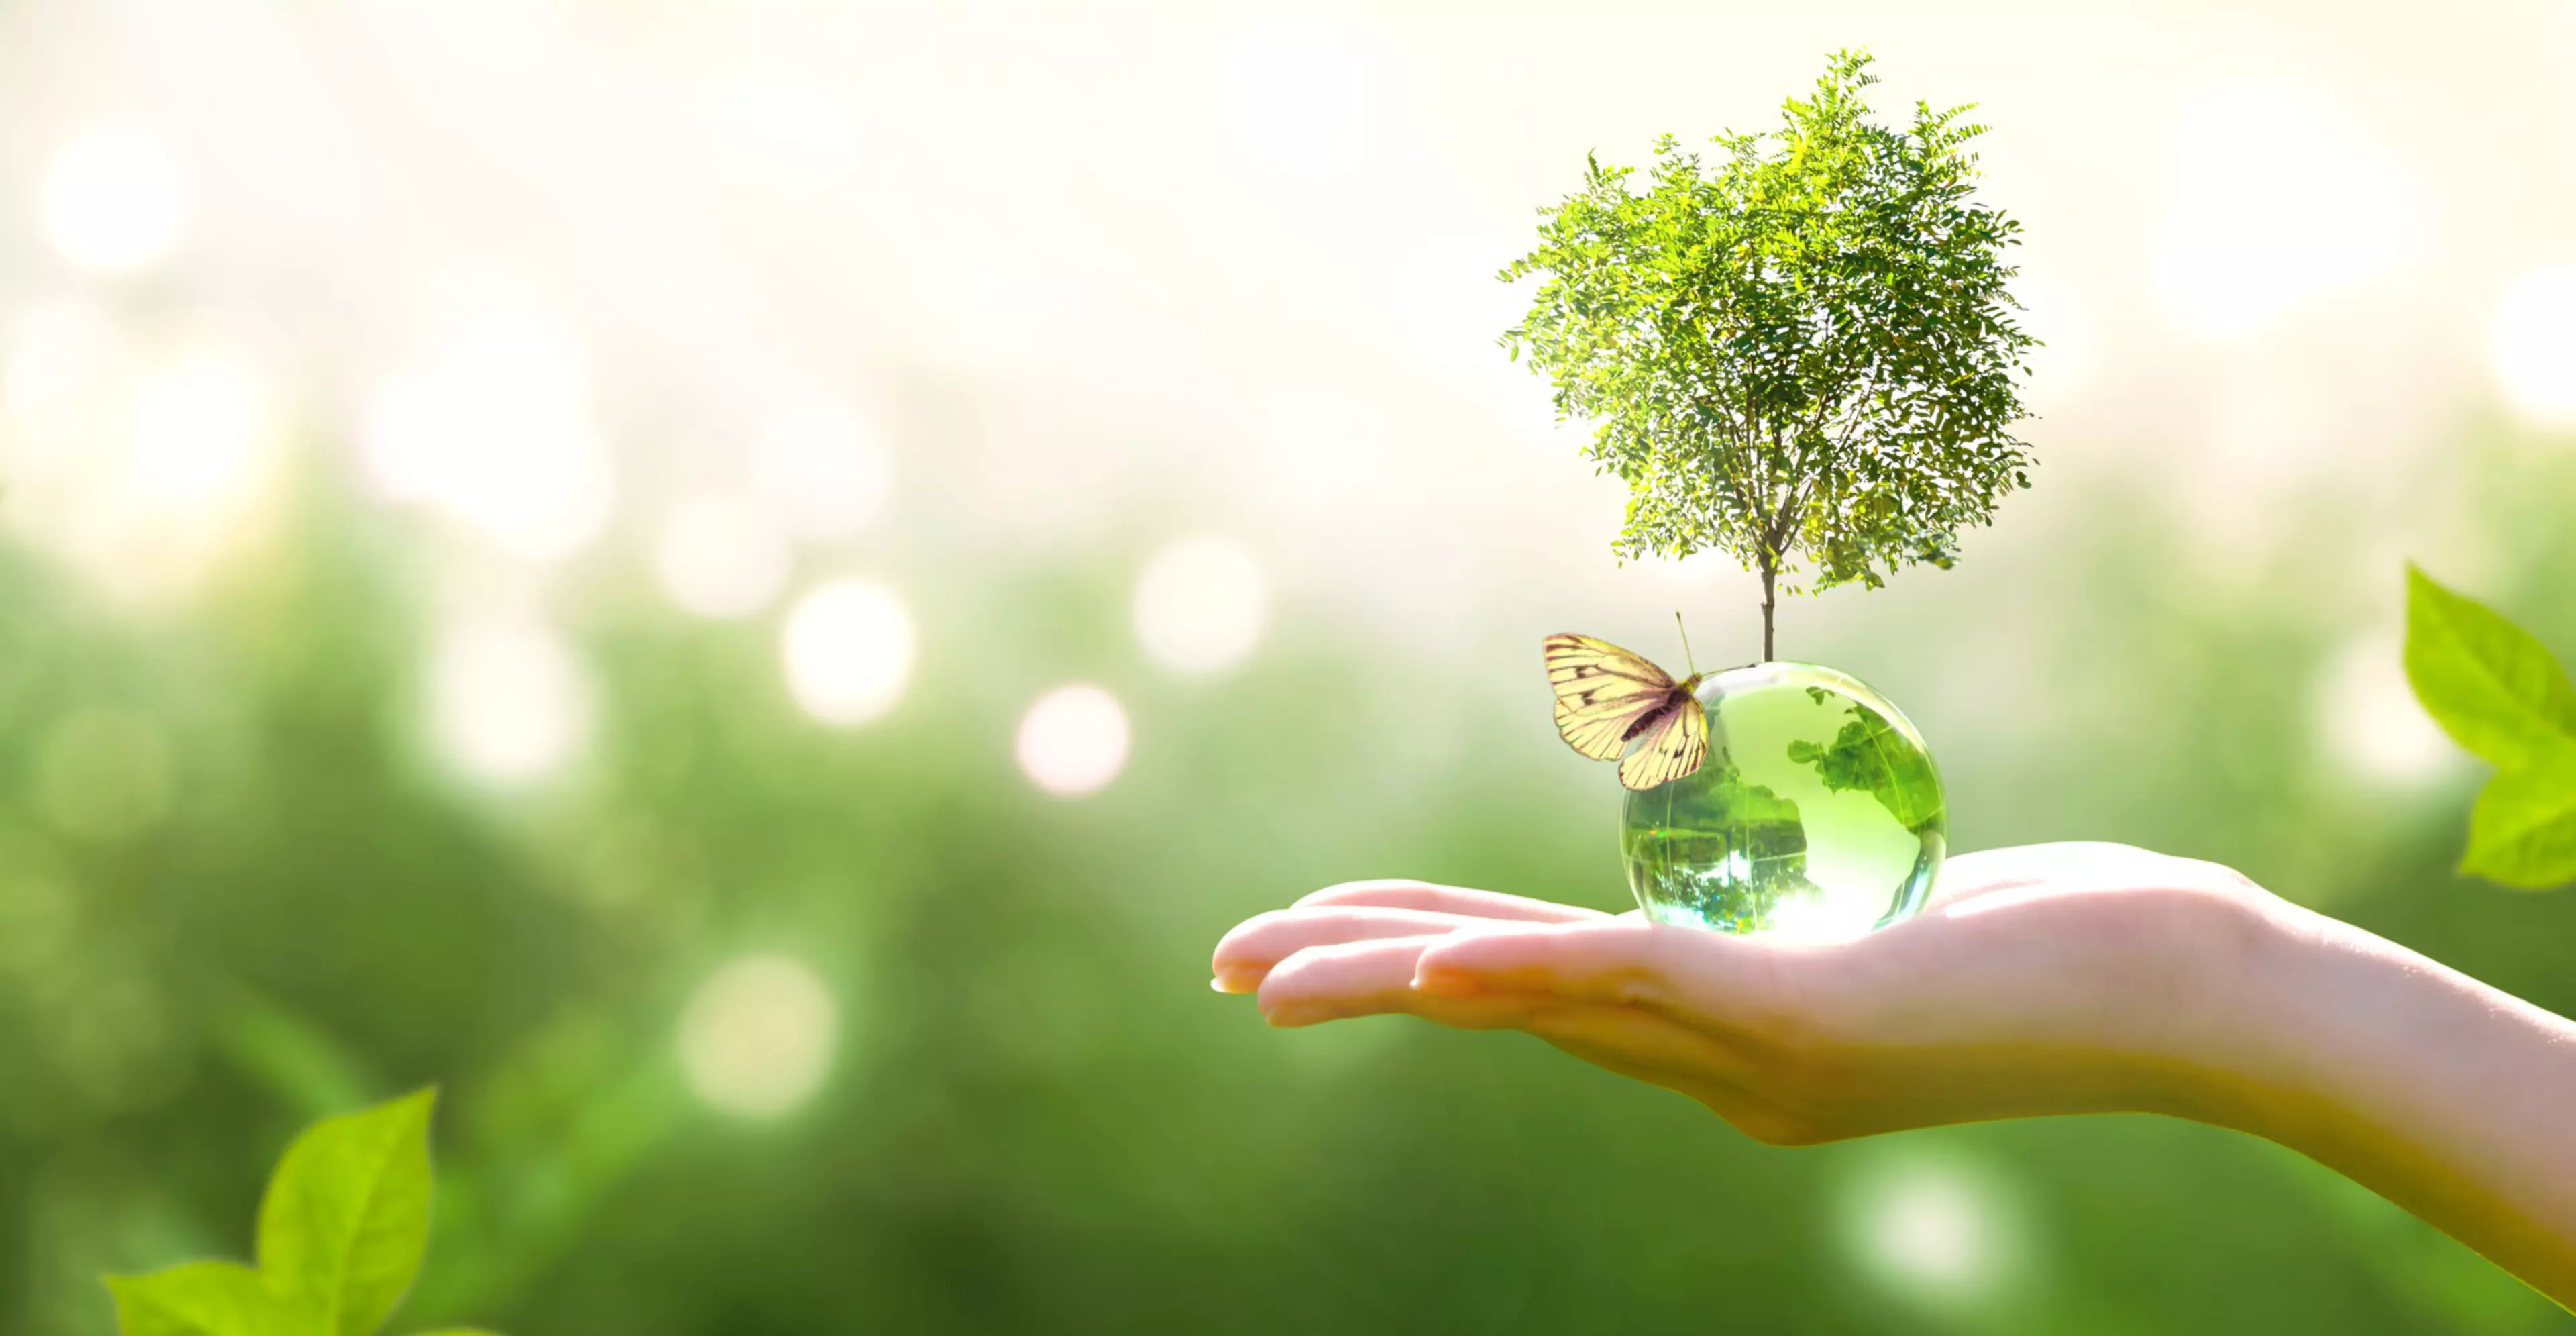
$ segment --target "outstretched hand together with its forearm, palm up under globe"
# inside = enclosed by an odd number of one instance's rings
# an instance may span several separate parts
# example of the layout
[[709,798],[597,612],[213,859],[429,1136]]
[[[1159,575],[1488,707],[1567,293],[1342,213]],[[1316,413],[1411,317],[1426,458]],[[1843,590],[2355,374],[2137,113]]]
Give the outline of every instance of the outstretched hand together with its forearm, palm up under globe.
[[1857,941],[1649,923],[1422,882],[1244,921],[1216,988],[1270,1024],[1525,1029],[1772,1145],[2027,1114],[2254,1132],[2576,1305],[2576,1024],[2218,864],[1963,854]]

